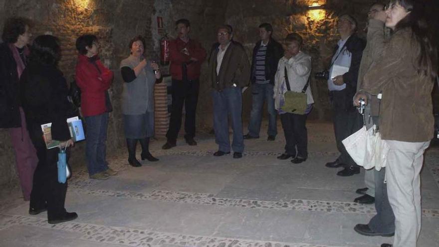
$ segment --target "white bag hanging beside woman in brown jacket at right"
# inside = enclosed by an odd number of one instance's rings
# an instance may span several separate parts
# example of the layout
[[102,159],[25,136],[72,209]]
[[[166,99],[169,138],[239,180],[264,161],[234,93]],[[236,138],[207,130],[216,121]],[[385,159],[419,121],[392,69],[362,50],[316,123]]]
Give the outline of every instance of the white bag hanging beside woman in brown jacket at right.
[[376,129],[375,125],[369,130],[363,126],[342,141],[355,163],[366,170],[375,167],[376,170],[380,171],[382,167],[386,166],[389,147],[381,140],[381,134]]

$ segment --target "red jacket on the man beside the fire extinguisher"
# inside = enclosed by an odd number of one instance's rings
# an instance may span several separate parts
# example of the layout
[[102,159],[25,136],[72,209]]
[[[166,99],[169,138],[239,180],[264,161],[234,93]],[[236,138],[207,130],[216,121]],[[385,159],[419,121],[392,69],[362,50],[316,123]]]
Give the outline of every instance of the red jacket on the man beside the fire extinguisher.
[[[184,48],[189,51],[189,56],[181,52]],[[189,39],[189,42],[185,43],[181,38],[171,40],[169,43],[170,52],[170,72],[173,79],[182,80],[182,64],[189,62],[191,57],[196,58],[198,61],[188,64],[188,79],[193,80],[200,77],[201,64],[206,59],[206,50],[201,44],[193,39]]]

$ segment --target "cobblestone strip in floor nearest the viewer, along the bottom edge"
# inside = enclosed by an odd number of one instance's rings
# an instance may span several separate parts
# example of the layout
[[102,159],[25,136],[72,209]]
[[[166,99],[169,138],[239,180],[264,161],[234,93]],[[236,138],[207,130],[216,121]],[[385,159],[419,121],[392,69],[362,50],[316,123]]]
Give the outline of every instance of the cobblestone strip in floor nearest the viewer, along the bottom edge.
[[[148,230],[108,227],[79,222],[49,225],[45,219],[0,214],[3,229],[12,226],[28,226],[55,229],[82,234],[81,240],[136,247],[161,247],[163,245],[192,247],[335,247],[327,245],[282,243],[273,241],[243,240],[221,237],[184,235]],[[1,230],[1,228],[0,228]]]

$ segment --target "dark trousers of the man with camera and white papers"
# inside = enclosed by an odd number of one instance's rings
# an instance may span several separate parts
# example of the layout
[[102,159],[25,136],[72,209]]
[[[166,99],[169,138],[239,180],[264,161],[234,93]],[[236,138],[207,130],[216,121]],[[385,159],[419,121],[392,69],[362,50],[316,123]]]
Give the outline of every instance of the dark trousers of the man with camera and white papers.
[[335,141],[337,149],[340,152],[338,161],[348,166],[357,166],[351,156],[346,151],[342,141],[357,132],[363,126],[363,118],[356,111],[352,104],[352,97],[346,93],[346,89],[341,91],[331,91],[331,107],[333,112],[333,123],[335,132]]

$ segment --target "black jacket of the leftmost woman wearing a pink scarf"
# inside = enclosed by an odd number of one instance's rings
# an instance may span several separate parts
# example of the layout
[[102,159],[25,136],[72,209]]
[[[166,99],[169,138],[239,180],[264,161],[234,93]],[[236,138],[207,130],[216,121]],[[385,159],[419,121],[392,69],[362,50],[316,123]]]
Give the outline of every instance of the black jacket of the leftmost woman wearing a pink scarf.
[[0,128],[21,126],[17,64],[7,43],[0,44]]

